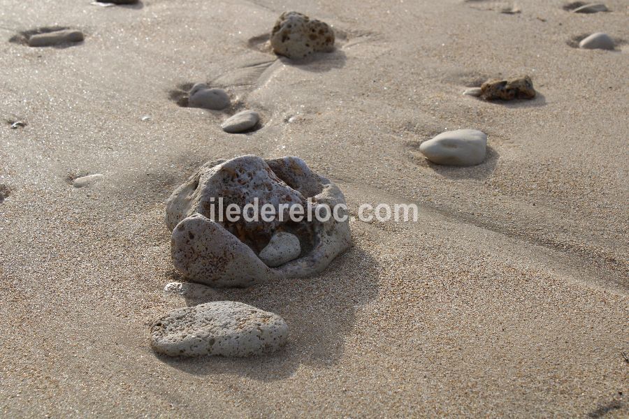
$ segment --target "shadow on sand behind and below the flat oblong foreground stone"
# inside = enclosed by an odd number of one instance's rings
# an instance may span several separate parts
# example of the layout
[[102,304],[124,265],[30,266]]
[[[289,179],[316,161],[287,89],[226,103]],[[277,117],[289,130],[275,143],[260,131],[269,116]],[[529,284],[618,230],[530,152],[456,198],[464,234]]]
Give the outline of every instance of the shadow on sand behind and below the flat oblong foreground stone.
[[[356,275],[356,270],[361,274]],[[170,358],[162,362],[188,374],[238,374],[259,381],[292,376],[305,363],[332,367],[345,348],[345,337],[356,323],[356,309],[377,297],[375,260],[359,247],[338,256],[316,277],[282,279],[249,288],[219,288],[205,300],[188,297],[189,305],[225,300],[245,302],[279,314],[289,325],[289,341],[277,353],[252,358]],[[211,289],[211,288],[210,288]]]

